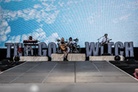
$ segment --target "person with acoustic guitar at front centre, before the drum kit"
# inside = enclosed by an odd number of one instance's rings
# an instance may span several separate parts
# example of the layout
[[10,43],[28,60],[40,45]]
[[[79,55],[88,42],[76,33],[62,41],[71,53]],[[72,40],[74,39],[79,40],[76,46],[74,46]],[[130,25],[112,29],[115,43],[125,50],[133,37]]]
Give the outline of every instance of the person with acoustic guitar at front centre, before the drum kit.
[[67,60],[67,56],[68,56],[68,47],[67,47],[67,44],[65,43],[63,37],[61,38],[61,41],[60,41],[60,49],[61,49],[61,51],[62,51],[63,54],[64,54],[64,61],[68,61],[68,60]]

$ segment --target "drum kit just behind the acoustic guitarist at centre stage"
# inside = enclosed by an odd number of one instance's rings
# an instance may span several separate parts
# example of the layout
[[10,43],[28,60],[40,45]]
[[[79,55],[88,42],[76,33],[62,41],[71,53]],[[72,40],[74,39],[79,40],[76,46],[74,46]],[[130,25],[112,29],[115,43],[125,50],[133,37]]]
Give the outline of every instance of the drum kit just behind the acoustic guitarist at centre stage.
[[[58,53],[61,52],[60,41],[61,41],[60,39],[57,39],[57,45],[58,45],[57,52]],[[69,53],[79,53],[80,52],[80,45],[78,45],[78,41],[79,41],[78,38],[72,39],[72,41],[70,41],[70,39],[65,41]]]

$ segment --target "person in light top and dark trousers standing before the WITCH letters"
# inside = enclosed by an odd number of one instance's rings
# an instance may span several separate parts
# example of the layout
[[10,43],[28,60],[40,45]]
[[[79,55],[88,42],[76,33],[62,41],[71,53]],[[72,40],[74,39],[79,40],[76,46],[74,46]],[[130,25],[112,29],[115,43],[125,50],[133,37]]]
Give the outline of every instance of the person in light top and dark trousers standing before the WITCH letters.
[[110,40],[108,38],[108,34],[104,34],[101,45],[104,46],[104,54],[108,54],[108,43],[110,42]]

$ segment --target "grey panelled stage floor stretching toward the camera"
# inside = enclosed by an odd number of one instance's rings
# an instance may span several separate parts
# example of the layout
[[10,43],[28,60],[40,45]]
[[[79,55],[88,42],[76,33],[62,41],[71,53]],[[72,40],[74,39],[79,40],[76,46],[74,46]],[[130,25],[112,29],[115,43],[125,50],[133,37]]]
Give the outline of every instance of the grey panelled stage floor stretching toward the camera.
[[107,61],[25,62],[0,74],[0,92],[91,90],[137,92],[138,81]]

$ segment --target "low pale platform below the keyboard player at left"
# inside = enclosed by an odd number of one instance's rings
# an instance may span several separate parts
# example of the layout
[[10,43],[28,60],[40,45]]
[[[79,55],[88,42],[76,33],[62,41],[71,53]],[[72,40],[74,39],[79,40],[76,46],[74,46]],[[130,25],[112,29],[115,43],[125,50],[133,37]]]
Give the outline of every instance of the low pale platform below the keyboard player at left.
[[48,61],[47,56],[21,56],[20,61]]

